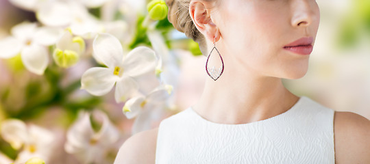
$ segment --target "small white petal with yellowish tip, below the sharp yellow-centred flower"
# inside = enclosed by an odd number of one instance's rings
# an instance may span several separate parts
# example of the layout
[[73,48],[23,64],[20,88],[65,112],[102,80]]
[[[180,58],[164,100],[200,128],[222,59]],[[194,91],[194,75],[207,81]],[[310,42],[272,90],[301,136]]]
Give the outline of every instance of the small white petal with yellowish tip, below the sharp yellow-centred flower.
[[142,96],[131,98],[125,102],[123,106],[123,113],[126,115],[127,119],[135,118],[143,110],[143,105],[145,105],[145,98]]

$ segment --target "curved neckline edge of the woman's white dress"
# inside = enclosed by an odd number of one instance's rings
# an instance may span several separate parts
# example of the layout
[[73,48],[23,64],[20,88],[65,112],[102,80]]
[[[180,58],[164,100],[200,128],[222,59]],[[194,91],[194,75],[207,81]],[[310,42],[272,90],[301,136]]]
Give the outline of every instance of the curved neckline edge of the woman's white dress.
[[301,96],[297,100],[297,102],[295,102],[295,104],[290,109],[285,111],[284,113],[280,113],[278,115],[275,115],[271,118],[267,118],[267,119],[264,119],[264,120],[259,120],[259,121],[256,121],[256,122],[249,122],[249,123],[245,123],[245,124],[221,124],[221,123],[217,123],[217,122],[211,122],[210,120],[206,120],[206,118],[203,118],[196,111],[194,111],[193,107],[189,107],[188,111],[190,111],[190,113],[193,113],[193,115],[195,115],[195,118],[197,118],[201,122],[206,122],[208,124],[213,124],[213,125],[217,125],[217,126],[247,126],[247,125],[252,125],[252,124],[262,124],[263,122],[269,122],[269,121],[273,121],[273,120],[282,118],[285,115],[288,115],[289,113],[292,113],[293,111],[295,111],[295,109],[298,109],[299,105],[301,105],[302,102],[304,100],[306,100],[306,98],[307,98],[306,96]]

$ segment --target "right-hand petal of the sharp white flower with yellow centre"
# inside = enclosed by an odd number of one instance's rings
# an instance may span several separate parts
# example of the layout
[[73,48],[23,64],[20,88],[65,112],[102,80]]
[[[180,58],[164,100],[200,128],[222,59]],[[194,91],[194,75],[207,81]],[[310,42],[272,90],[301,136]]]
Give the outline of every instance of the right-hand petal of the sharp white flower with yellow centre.
[[156,53],[153,50],[145,46],[138,46],[128,53],[123,61],[125,73],[130,77],[136,77],[150,71],[153,71],[154,74],[157,61]]

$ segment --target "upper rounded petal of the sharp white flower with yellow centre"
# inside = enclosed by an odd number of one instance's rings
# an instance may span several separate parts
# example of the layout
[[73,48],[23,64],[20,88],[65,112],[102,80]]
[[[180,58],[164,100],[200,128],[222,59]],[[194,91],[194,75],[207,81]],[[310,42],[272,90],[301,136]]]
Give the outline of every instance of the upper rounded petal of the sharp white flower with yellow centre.
[[121,42],[109,33],[100,33],[94,40],[93,49],[98,61],[114,68],[122,65],[123,49]]

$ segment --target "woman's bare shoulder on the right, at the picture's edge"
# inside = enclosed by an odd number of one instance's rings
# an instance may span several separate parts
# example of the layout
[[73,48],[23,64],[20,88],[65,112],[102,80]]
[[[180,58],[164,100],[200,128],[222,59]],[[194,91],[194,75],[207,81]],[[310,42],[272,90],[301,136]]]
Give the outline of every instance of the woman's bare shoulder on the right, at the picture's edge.
[[356,113],[334,114],[336,163],[370,163],[370,121]]

